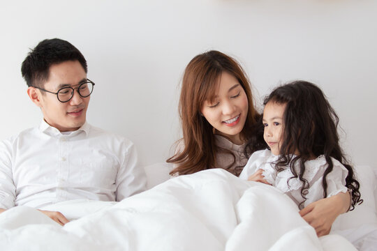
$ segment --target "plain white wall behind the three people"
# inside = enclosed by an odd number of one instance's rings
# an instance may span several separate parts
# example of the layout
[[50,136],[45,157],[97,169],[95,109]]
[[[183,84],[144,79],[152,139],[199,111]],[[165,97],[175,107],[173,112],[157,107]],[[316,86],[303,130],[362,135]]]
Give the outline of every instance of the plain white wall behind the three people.
[[258,100],[276,84],[320,85],[339,113],[343,146],[377,166],[377,1],[6,1],[0,6],[0,139],[38,125],[20,66],[44,38],[86,56],[96,82],[91,124],[135,142],[142,165],[179,137],[179,82],[188,61],[221,50],[241,61]]

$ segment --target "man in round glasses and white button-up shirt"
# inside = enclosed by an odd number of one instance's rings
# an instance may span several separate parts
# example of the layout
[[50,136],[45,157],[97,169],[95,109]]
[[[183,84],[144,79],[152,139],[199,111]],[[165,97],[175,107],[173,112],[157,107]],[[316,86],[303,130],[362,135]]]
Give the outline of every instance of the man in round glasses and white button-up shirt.
[[[120,201],[145,189],[133,143],[86,121],[94,82],[79,50],[65,40],[43,40],[21,71],[43,121],[0,142],[0,213],[69,199]],[[42,212],[68,222],[59,212]]]

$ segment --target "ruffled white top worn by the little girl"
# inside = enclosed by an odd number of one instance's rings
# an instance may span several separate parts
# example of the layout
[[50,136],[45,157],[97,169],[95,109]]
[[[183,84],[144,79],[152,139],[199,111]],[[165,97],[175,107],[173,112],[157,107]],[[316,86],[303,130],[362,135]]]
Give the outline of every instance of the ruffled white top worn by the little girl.
[[[247,180],[247,178],[254,174],[258,169],[263,169],[265,180],[292,198],[298,206],[304,201],[304,198],[301,195],[302,181],[300,181],[299,178],[291,178],[293,177],[293,173],[290,171],[289,167],[286,167],[286,169],[279,173],[276,172],[274,162],[278,158],[279,156],[272,154],[268,149],[256,151],[249,158],[249,161],[239,175],[239,178]],[[348,170],[338,160],[335,160],[334,158],[331,159],[334,167],[332,172],[326,176],[327,197],[337,195],[339,192],[347,192],[345,185]],[[296,166],[297,165],[298,162],[296,163]],[[326,168],[327,162],[323,155],[320,155],[316,160],[308,160],[305,162],[304,178],[309,182],[309,190],[306,195],[306,201],[303,204],[304,207],[311,204],[313,201],[323,199],[322,180]]]

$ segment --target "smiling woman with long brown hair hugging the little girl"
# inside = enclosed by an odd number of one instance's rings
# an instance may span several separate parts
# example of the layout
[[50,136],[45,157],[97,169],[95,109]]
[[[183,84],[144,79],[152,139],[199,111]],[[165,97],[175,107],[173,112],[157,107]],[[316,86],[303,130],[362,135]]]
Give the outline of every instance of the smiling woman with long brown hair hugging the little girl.
[[[205,52],[188,63],[179,116],[183,138],[167,160],[175,166],[172,175],[220,167],[238,176],[251,153],[267,147],[249,80],[239,63],[221,52]],[[323,236],[349,208],[346,192],[313,202],[300,215]]]

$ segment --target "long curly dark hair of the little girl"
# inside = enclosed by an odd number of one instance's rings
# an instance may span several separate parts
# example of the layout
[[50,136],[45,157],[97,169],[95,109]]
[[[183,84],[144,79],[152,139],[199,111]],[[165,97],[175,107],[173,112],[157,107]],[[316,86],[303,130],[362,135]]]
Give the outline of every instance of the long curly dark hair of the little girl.
[[[339,145],[339,117],[323,91],[310,82],[295,81],[274,89],[265,98],[264,105],[267,102],[286,104],[283,116],[283,142],[279,159],[276,161],[276,170],[281,172],[283,167],[290,167],[294,175],[292,178],[302,181],[301,195],[304,201],[309,188],[309,182],[304,178],[305,162],[311,160],[313,155],[324,155],[328,166],[323,175],[323,197],[327,197],[326,176],[332,172],[334,158],[348,170],[346,187],[352,195],[350,210],[353,210],[356,204],[361,204],[360,183],[355,179],[353,167],[347,162]],[[295,152],[297,155],[290,154]]]

